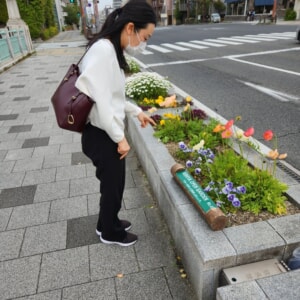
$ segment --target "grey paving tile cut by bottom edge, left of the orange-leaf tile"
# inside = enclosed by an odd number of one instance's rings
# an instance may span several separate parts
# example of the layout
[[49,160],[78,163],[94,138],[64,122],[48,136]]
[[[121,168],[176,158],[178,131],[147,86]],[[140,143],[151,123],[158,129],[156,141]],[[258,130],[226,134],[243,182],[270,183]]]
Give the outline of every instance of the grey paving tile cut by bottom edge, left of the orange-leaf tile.
[[63,289],[63,300],[117,300],[113,278]]

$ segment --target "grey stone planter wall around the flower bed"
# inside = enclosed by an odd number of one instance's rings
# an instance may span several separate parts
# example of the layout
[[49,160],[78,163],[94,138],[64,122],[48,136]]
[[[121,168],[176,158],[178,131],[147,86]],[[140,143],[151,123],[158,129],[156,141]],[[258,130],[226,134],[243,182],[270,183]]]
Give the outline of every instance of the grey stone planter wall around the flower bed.
[[[216,117],[200,103],[196,106]],[[212,231],[173,179],[175,161],[153,129],[142,129],[136,118],[128,117],[128,132],[198,299],[216,298],[222,269],[270,258],[287,260],[300,246],[300,214]],[[290,187],[288,196],[300,203],[299,182],[281,170],[278,175]]]

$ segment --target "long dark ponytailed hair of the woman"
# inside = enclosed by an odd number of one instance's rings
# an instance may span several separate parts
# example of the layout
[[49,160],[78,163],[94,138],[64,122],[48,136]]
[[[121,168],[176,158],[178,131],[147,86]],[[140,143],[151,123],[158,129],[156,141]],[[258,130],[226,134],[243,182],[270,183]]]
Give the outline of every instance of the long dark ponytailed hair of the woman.
[[123,7],[115,9],[107,16],[101,30],[89,42],[88,47],[101,38],[109,39],[115,47],[120,68],[128,69],[121,48],[121,32],[126,24],[132,22],[136,31],[146,28],[149,23],[156,25],[156,15],[146,0],[129,0]]

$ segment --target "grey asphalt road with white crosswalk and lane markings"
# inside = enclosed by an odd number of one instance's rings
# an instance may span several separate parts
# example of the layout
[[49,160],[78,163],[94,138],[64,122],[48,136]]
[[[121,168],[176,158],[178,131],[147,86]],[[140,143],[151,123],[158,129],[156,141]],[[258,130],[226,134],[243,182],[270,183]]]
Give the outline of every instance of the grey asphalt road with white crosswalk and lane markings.
[[286,152],[286,162],[300,170],[300,44],[295,30],[296,25],[246,22],[158,27],[148,52],[137,58],[222,117],[241,116],[236,125],[244,130],[253,126],[254,137],[270,148],[274,145],[264,142],[262,134],[273,130],[278,151]]

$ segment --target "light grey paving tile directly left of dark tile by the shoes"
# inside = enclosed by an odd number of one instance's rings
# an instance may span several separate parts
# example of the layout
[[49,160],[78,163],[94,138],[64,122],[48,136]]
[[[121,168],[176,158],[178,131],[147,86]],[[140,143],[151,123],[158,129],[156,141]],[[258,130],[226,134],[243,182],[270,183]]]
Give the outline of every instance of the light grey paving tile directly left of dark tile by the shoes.
[[65,249],[66,237],[67,222],[65,221],[29,227],[26,229],[20,256]]

